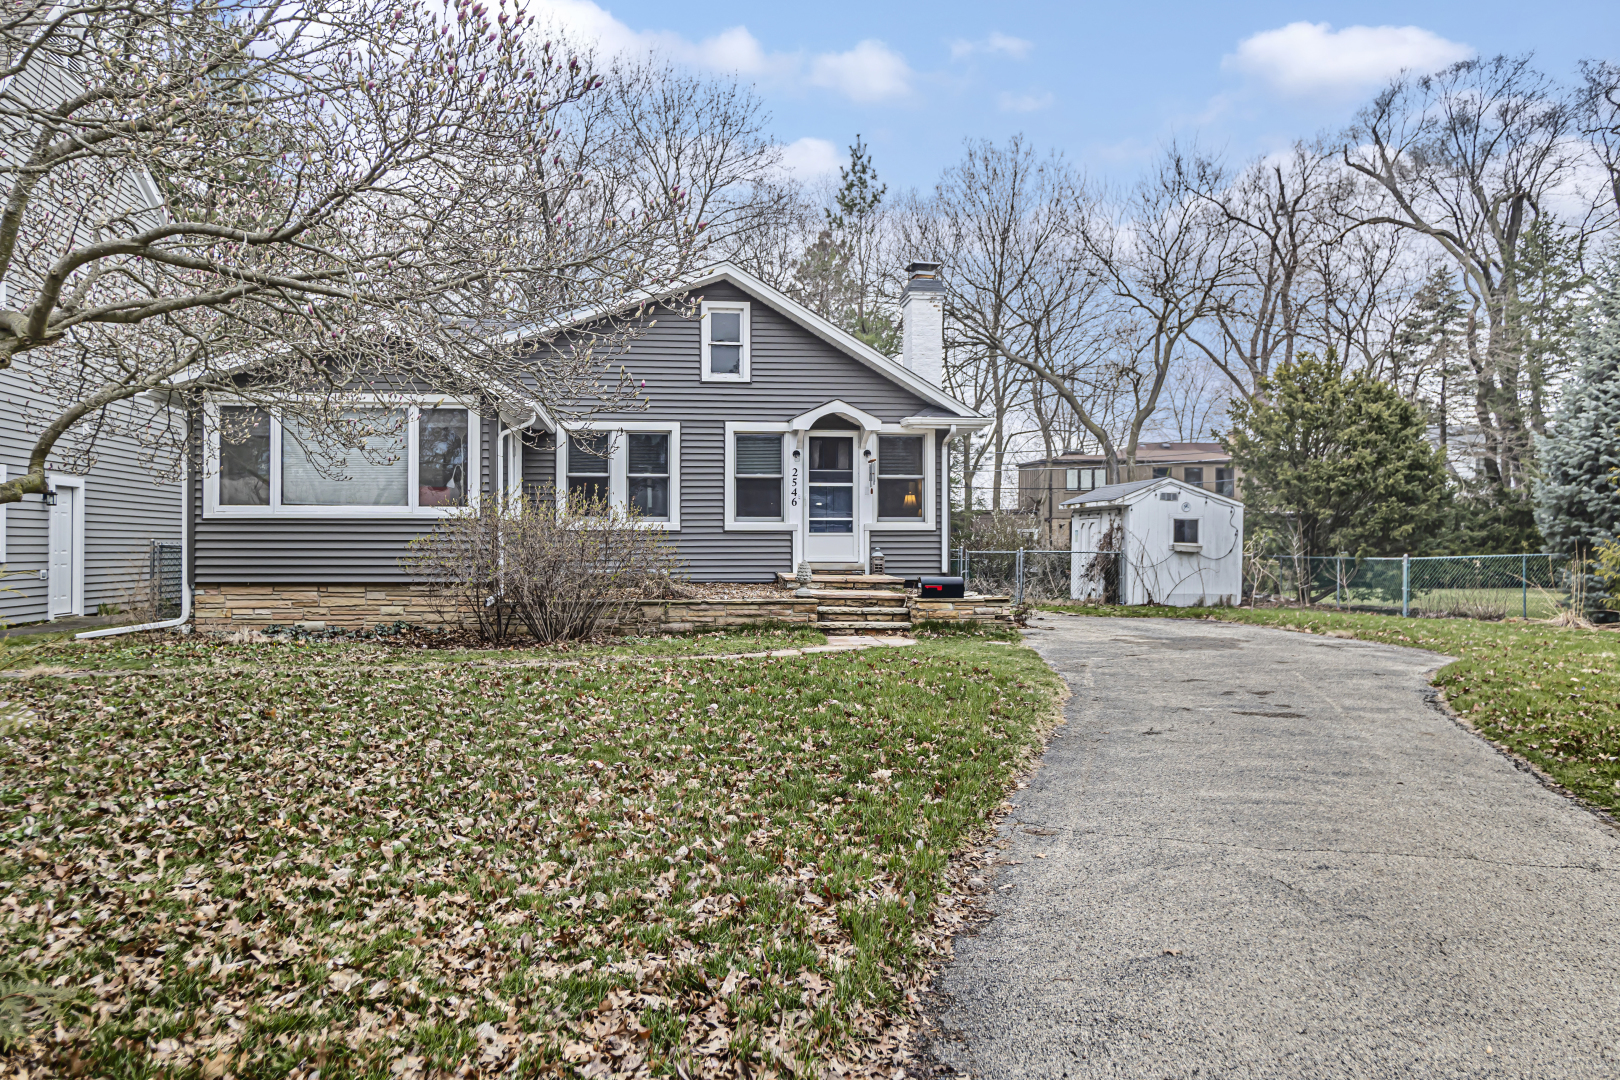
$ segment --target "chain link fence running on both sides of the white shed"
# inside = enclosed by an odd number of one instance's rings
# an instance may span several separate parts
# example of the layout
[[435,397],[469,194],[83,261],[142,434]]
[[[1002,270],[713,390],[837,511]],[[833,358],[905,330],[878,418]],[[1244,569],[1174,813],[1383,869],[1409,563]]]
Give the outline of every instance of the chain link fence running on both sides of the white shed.
[[[951,572],[987,596],[1017,604],[1089,599],[1119,602],[1119,552],[970,551],[953,552]],[[1076,581],[1079,596],[1076,596]],[[1246,559],[1244,599],[1311,604],[1388,615],[1455,619],[1552,619],[1568,607],[1565,555],[1437,555],[1356,559],[1306,555]]]

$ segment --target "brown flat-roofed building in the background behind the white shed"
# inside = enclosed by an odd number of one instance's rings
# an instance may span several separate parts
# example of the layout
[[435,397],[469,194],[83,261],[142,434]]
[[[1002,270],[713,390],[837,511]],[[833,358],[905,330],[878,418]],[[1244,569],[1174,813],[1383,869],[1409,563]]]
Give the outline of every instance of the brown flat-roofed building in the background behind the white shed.
[[[1119,470],[1118,483],[1168,476],[1183,484],[1239,499],[1238,471],[1218,442],[1144,442],[1136,463]],[[1069,512],[1064,500],[1108,483],[1103,455],[1064,450],[1017,466],[1019,512],[1038,525],[1035,542],[1051,551],[1069,547]]]

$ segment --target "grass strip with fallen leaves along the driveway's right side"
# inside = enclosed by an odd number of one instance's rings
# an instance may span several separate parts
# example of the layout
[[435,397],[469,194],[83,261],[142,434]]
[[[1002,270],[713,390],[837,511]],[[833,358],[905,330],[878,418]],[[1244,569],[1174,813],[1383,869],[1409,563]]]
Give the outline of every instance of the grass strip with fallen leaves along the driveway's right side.
[[1434,685],[1456,712],[1581,798],[1620,811],[1620,631],[1298,607],[1042,607],[1082,615],[1221,619],[1455,656]]

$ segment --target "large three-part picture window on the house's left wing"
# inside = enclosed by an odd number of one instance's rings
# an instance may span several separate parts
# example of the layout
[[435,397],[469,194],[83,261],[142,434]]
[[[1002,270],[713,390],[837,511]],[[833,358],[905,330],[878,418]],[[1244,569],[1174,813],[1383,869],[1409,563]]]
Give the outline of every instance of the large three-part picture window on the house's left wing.
[[209,419],[209,513],[437,515],[476,491],[478,416],[463,406],[360,405],[316,424],[220,405]]

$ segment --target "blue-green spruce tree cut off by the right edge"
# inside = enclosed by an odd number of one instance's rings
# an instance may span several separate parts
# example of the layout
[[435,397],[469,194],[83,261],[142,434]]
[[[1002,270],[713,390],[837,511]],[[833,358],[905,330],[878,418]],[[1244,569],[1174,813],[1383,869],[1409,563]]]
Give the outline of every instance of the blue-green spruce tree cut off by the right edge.
[[[1539,440],[1536,525],[1547,551],[1591,559],[1620,534],[1620,256],[1596,275],[1575,361],[1550,434]],[[1601,593],[1588,583],[1594,607]]]

